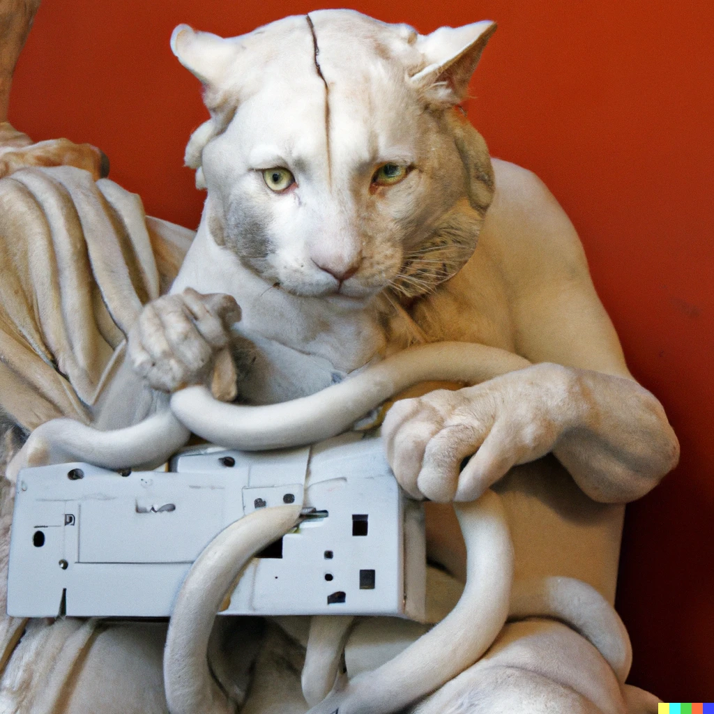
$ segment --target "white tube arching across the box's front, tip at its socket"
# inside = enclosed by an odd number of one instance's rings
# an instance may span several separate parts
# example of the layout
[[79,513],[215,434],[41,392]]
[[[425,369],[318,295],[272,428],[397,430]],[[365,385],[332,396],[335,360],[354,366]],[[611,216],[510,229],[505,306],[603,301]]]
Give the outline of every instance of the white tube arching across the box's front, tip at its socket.
[[299,504],[253,511],[218,533],[191,565],[176,595],[164,647],[171,714],[233,714],[208,670],[213,620],[248,560],[293,528],[300,511]]

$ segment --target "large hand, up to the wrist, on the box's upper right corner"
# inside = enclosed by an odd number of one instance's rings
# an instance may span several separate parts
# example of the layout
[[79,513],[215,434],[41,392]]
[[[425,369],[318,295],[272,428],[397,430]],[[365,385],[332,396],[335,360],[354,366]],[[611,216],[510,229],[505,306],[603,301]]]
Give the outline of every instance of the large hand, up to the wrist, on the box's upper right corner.
[[473,501],[513,466],[552,451],[575,426],[578,396],[573,371],[538,364],[398,401],[382,427],[387,460],[414,498]]

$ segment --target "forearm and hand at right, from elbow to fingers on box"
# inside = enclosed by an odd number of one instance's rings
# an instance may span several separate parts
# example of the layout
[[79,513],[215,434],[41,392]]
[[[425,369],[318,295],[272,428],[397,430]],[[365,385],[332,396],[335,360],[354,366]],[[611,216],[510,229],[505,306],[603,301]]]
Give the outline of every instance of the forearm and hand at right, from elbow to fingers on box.
[[398,402],[383,434],[403,488],[441,502],[478,498],[553,451],[590,498],[625,503],[679,456],[662,406],[635,381],[551,363]]

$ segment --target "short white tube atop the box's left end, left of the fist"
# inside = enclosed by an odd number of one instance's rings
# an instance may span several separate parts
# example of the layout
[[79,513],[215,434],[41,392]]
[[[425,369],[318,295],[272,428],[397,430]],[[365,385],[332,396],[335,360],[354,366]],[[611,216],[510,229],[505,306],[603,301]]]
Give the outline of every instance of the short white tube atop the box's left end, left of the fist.
[[86,461],[102,468],[164,463],[188,441],[191,432],[171,411],[157,412],[123,429],[99,431],[74,419],[51,419],[38,426],[7,467],[15,481],[21,468]]

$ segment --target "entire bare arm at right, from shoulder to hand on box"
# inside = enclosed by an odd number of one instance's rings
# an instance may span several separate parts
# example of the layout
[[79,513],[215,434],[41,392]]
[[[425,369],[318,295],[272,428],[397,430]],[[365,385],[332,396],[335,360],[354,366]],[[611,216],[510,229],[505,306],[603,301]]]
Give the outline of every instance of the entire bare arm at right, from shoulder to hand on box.
[[398,403],[384,429],[391,465],[415,496],[468,500],[553,451],[591,498],[640,498],[677,463],[677,439],[628,372],[562,208],[533,174],[499,163],[496,175],[482,247],[507,276],[516,351],[534,364]]

